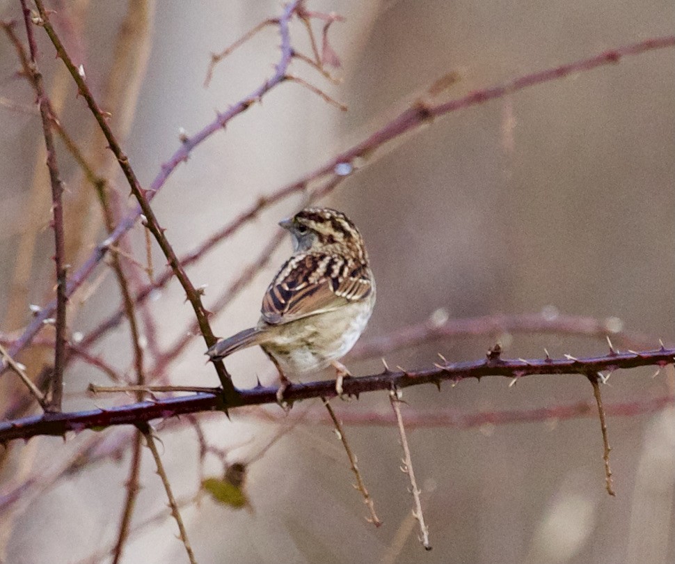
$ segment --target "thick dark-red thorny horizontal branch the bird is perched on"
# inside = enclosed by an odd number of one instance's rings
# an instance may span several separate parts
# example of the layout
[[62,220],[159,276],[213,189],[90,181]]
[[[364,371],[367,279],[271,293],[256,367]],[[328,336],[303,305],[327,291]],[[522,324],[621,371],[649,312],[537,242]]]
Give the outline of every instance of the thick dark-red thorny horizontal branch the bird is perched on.
[[[450,380],[460,382],[463,379],[484,376],[502,376],[511,379],[527,375],[560,375],[612,372],[621,368],[639,366],[666,366],[675,363],[675,349],[661,347],[658,350],[644,352],[610,352],[603,357],[587,359],[501,359],[491,351],[482,361],[445,363],[430,370],[403,371],[385,370],[381,374],[347,378],[344,380],[344,393],[358,395],[377,390],[402,389],[420,384],[436,384]],[[307,400],[309,398],[335,397],[335,382],[323,380],[307,384],[292,384],[284,392],[287,402]],[[182,414],[212,412],[233,409],[244,405],[262,405],[276,403],[276,388],[256,387],[240,390],[232,400],[225,400],[220,389],[213,393],[197,393],[181,398],[138,402],[131,405],[93,409],[86,412],[63,414],[44,414],[26,417],[15,421],[0,423],[0,442],[13,439],[29,439],[37,435],[61,436],[67,431],[82,431],[90,428],[106,428],[111,425],[138,425],[153,419],[166,419]]]

